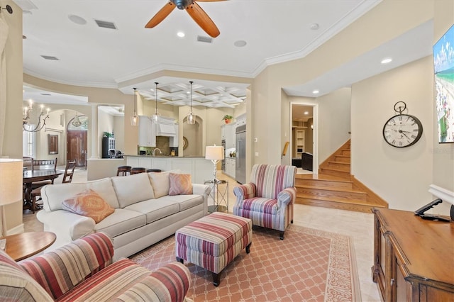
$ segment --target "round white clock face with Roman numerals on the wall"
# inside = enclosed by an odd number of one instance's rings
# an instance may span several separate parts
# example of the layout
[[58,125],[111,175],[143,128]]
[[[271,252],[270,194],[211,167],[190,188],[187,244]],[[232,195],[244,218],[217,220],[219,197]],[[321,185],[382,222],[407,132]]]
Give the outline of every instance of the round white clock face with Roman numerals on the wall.
[[414,145],[423,134],[423,125],[415,116],[399,114],[389,118],[383,126],[383,138],[393,147]]

